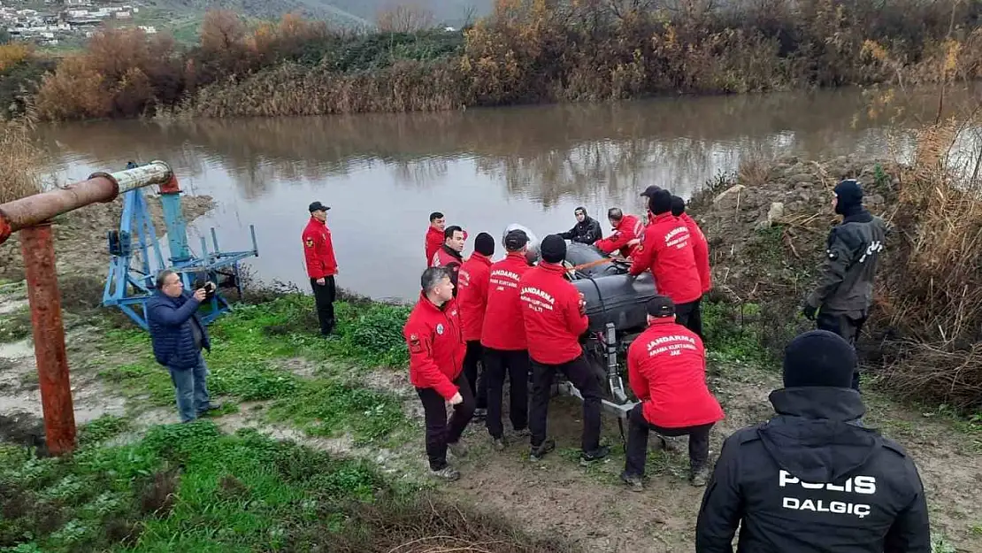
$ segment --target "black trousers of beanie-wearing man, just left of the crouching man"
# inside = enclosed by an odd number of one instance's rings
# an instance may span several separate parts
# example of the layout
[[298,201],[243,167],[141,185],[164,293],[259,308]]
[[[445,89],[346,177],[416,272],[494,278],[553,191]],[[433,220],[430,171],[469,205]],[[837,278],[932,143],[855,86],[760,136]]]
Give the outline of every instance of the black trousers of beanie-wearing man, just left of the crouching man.
[[570,379],[583,396],[583,435],[580,447],[584,452],[596,451],[600,447],[600,394],[603,388],[583,354],[562,364],[544,364],[531,359],[531,365],[532,401],[529,406],[528,429],[532,435],[532,446],[540,446],[546,441],[546,419],[549,416],[553,375],[558,370]]

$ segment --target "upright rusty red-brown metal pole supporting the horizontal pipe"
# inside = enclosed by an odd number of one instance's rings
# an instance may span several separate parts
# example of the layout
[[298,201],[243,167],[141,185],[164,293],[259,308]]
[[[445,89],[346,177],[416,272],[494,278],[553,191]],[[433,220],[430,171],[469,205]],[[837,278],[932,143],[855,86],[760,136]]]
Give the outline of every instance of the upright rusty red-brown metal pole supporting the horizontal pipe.
[[75,409],[68,376],[51,224],[41,223],[22,229],[21,251],[27,272],[27,299],[44,412],[44,434],[48,451],[61,455],[75,450]]

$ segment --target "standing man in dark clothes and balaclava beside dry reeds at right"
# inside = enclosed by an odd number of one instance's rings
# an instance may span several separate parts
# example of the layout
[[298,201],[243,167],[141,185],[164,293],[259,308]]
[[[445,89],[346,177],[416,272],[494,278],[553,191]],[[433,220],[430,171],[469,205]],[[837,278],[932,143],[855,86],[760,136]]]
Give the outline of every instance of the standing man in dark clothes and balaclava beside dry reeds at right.
[[[862,188],[846,180],[835,188],[833,206],[843,216],[829,233],[818,286],[804,305],[804,315],[822,330],[835,332],[855,347],[873,303],[873,279],[885,247],[887,224],[862,205]],[[859,389],[858,368],[852,388]]]

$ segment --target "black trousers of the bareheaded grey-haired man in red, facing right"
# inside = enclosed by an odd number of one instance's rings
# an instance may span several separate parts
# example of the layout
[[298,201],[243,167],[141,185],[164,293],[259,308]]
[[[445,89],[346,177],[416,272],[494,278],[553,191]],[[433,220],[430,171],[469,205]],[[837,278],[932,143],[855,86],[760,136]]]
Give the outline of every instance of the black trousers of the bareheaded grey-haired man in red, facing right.
[[433,388],[416,388],[419,400],[423,403],[426,420],[426,457],[431,470],[447,467],[447,444],[456,444],[464,433],[464,428],[474,415],[474,396],[462,372],[454,384],[461,389],[464,401],[454,406],[454,415],[447,422],[447,400]]

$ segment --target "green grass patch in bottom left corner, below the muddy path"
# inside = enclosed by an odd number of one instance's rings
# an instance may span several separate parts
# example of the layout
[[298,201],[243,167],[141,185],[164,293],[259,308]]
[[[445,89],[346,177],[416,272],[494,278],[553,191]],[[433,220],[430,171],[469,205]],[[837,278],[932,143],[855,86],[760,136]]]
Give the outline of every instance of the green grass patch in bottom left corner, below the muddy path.
[[322,533],[312,526],[339,529],[347,502],[385,488],[364,463],[250,430],[198,421],[104,447],[125,425],[93,424],[74,456],[0,449],[4,551],[304,550]]

